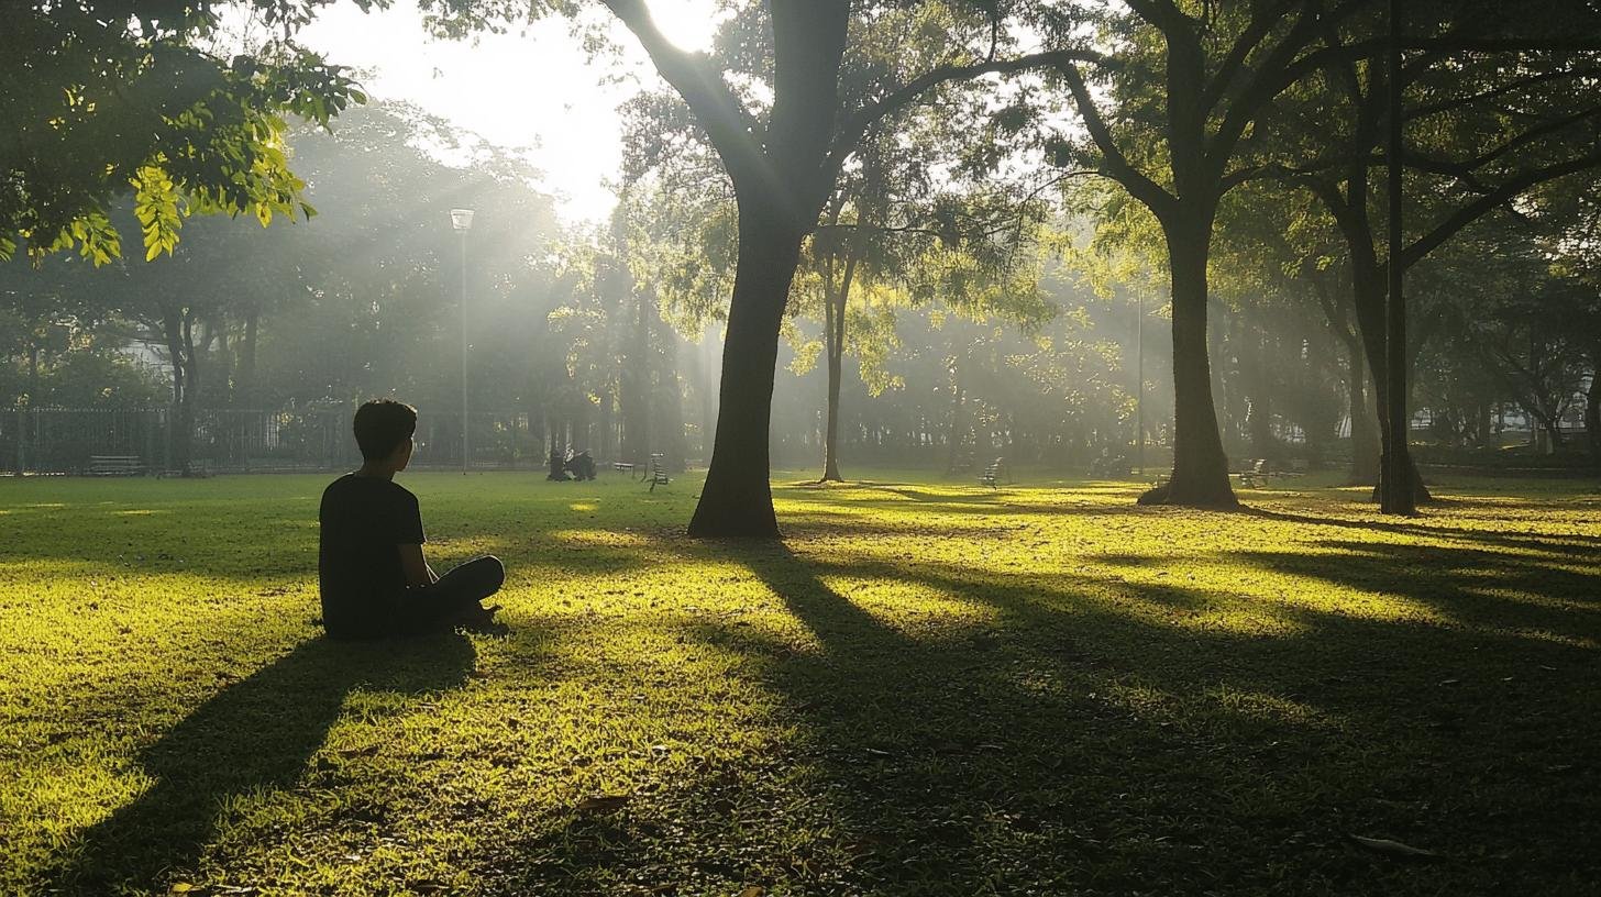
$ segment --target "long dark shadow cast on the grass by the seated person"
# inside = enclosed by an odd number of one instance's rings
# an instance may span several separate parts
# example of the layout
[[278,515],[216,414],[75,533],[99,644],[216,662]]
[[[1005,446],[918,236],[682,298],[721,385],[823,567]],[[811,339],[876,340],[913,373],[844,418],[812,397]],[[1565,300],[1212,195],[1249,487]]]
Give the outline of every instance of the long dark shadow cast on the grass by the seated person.
[[472,663],[472,644],[456,634],[299,644],[146,748],[136,762],[155,783],[64,849],[51,884],[69,894],[165,892],[194,868],[226,801],[304,774],[351,692],[439,692],[459,686]]

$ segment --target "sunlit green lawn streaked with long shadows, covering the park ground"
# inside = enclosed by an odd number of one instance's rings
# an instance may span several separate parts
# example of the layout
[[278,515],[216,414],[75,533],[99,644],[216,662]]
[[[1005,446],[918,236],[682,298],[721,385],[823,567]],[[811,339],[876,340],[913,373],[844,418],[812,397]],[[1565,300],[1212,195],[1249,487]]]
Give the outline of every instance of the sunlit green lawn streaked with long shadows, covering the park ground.
[[1601,887],[1588,484],[403,474],[509,633],[351,647],[327,479],[0,482],[0,894]]

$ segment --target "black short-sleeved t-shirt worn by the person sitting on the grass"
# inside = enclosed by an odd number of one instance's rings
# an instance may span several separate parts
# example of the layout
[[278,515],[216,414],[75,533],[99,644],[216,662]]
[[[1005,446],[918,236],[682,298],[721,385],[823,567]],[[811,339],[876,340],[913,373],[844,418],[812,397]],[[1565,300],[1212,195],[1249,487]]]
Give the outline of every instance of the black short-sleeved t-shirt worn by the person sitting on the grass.
[[333,638],[370,638],[395,625],[405,591],[397,545],[423,545],[416,495],[394,481],[344,474],[322,493],[317,580]]

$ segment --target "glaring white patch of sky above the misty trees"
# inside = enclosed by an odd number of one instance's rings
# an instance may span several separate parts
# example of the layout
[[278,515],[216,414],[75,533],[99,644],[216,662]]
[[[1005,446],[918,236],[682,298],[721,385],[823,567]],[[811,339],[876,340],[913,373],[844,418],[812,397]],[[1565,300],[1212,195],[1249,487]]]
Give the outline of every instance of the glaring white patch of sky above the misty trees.
[[[696,50],[711,42],[711,0],[650,0],[650,8],[674,43]],[[632,35],[616,26],[623,59],[591,62],[559,18],[475,42],[432,40],[419,22],[413,0],[375,13],[341,3],[299,40],[330,62],[360,69],[375,101],[405,99],[493,144],[527,147],[562,218],[604,219],[615,203],[604,181],[615,181],[621,163],[616,107],[640,85],[660,83]]]

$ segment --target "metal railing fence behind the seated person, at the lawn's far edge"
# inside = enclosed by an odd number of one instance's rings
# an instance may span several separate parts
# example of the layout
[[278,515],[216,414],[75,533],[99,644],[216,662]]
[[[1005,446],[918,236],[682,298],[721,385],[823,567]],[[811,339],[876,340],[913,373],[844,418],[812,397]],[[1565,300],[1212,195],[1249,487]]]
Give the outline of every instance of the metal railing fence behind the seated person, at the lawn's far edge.
[[[192,466],[211,473],[333,471],[362,463],[354,408],[195,410]],[[0,471],[90,473],[96,457],[133,457],[147,473],[171,471],[173,408],[19,408],[0,412]],[[540,469],[546,447],[522,412],[467,416],[471,466]],[[419,415],[416,468],[461,466],[461,413]]]

